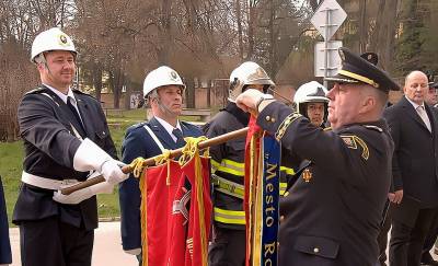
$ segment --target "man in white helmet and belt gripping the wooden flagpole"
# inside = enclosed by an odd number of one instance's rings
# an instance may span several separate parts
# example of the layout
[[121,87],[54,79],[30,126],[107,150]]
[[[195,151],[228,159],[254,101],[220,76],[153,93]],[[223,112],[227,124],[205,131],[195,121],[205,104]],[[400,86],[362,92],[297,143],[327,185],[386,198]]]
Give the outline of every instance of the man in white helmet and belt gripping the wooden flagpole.
[[[76,57],[70,37],[56,27],[38,34],[32,45],[42,85],[19,105],[25,157],[13,213],[24,266],[91,265],[97,227],[94,195],[112,192],[113,184],[127,177],[113,159],[116,149],[100,103],[70,88]],[[60,194],[91,171],[106,182]]]

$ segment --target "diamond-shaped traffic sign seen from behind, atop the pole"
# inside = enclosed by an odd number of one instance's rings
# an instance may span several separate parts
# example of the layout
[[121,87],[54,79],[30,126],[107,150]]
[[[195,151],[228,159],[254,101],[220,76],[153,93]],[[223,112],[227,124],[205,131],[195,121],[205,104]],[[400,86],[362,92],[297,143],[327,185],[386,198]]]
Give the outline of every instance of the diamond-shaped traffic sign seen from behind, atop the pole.
[[310,22],[325,41],[330,41],[345,19],[347,19],[347,13],[336,0],[324,0],[318,7]]

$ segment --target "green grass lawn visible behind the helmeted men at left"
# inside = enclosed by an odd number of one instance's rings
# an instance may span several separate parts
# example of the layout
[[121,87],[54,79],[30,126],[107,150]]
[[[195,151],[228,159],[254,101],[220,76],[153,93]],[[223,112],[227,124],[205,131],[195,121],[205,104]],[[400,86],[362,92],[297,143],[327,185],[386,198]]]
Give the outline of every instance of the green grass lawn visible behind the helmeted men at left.
[[[126,129],[134,124],[143,122],[145,118],[146,109],[142,108],[107,114],[110,130],[119,157],[122,157],[120,147]],[[193,120],[193,117],[182,117],[182,119]],[[22,141],[0,142],[0,175],[5,194],[9,221],[12,219],[12,211],[21,183],[23,154]],[[99,195],[97,207],[100,218],[119,217],[117,189],[115,188],[114,193],[110,195]]]

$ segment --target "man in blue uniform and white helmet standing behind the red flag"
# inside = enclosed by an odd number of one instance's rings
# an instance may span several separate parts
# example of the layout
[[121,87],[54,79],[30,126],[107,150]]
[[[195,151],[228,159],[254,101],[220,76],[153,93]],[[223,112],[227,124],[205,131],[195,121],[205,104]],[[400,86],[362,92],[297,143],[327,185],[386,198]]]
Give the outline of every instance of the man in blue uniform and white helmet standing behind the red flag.
[[[199,137],[201,130],[178,119],[183,106],[185,85],[175,70],[162,66],[148,73],[143,82],[143,95],[150,103],[153,117],[149,122],[129,127],[122,147],[123,161],[132,162],[138,157],[151,158],[164,149],[183,147],[183,137]],[[141,193],[138,178],[129,178],[119,185],[122,211],[122,244],[126,253],[137,255],[141,265]]]

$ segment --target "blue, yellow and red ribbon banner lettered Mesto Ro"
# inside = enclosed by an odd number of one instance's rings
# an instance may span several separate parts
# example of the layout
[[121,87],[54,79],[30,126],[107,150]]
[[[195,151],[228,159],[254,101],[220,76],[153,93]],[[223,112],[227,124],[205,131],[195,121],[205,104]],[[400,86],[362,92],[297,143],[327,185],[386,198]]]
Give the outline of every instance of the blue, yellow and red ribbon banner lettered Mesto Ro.
[[250,120],[245,150],[246,266],[277,265],[280,147]]

